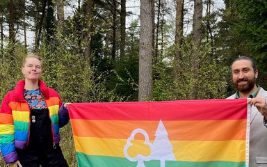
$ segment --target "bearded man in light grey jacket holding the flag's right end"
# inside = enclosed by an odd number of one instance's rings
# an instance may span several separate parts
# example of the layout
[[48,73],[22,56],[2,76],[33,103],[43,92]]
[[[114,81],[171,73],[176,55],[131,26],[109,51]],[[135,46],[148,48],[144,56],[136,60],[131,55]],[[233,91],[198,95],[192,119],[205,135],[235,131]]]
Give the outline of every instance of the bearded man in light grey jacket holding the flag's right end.
[[257,86],[257,67],[247,56],[240,56],[232,63],[232,82],[236,93],[227,99],[248,98],[252,105],[250,117],[249,166],[267,166],[267,92]]

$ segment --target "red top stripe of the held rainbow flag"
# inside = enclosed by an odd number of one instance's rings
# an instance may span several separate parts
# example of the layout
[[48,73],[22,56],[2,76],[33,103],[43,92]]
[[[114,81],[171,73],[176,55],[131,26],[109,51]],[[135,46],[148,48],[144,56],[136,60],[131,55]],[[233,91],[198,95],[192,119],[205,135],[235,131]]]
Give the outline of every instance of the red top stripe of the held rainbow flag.
[[240,120],[247,118],[247,105],[246,99],[180,100],[74,103],[69,109],[71,119],[86,120]]

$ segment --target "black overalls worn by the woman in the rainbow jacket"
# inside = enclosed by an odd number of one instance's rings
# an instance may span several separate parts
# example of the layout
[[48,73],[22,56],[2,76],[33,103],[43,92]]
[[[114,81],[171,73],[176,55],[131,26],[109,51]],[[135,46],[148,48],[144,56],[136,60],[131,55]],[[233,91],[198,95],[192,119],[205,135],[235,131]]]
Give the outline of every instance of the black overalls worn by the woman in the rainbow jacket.
[[67,167],[59,145],[53,142],[48,109],[31,109],[30,138],[26,149],[17,149],[25,167]]

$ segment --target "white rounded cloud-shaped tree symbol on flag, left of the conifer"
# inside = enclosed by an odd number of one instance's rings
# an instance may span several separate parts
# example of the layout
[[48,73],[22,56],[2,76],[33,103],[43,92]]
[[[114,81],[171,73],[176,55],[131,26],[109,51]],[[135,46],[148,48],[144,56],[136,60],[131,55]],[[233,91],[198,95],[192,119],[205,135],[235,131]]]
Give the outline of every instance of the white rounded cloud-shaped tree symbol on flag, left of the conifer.
[[[145,140],[143,143],[136,143],[135,142],[135,138],[134,136],[136,136],[136,134],[143,134],[143,136],[145,137]],[[134,144],[133,144],[134,143]],[[139,150],[139,152],[130,152],[131,156],[128,153],[128,150],[130,150],[131,148],[138,148],[137,150]],[[149,150],[151,150],[152,148],[152,143],[149,142],[149,136],[147,134],[147,132],[145,132],[144,129],[134,129],[133,132],[131,132],[131,136],[129,136],[129,138],[127,139],[127,143],[124,146],[124,156],[129,160],[129,161],[138,161],[137,166],[136,167],[145,167],[144,161],[149,161],[150,160],[150,151],[149,154],[146,155],[145,152],[143,152],[143,154],[141,151],[144,150],[144,148],[148,148]]]

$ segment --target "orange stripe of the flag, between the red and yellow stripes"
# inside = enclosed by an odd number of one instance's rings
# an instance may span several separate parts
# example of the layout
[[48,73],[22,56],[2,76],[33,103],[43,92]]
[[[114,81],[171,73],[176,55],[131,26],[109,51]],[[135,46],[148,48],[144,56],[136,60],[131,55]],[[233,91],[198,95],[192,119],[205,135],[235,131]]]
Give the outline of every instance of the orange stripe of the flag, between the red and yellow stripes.
[[[171,141],[244,140],[246,120],[163,121]],[[142,128],[154,140],[159,121],[72,120],[75,136],[126,139],[133,129]],[[207,135],[209,132],[209,135]],[[231,132],[231,133],[229,133]],[[139,137],[138,137],[139,136]],[[142,135],[136,139],[143,139]]]

